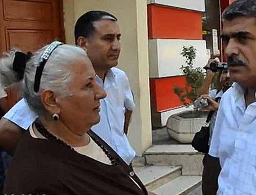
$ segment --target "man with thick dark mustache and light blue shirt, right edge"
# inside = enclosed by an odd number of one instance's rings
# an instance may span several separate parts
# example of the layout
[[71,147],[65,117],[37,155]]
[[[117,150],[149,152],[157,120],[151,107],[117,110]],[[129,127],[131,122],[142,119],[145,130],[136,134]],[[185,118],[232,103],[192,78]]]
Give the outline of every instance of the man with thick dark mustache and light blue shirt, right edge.
[[209,155],[218,157],[217,194],[256,194],[256,0],[237,0],[222,14],[232,87],[222,96]]

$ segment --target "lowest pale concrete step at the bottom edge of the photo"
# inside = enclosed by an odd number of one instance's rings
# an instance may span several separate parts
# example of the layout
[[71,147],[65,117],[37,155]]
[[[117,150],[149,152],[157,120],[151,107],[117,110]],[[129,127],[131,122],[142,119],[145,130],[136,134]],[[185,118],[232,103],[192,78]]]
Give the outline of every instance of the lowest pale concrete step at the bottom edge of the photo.
[[157,195],[185,195],[201,185],[201,176],[180,176],[153,192]]

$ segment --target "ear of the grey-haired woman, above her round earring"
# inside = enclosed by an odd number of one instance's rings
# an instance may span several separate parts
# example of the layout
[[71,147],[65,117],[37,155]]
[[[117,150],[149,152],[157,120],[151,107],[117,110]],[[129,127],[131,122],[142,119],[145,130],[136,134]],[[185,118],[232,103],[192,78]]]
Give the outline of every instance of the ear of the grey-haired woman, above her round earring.
[[59,114],[60,110],[59,107],[57,105],[57,96],[56,93],[53,92],[52,90],[44,90],[41,93],[41,102],[42,105],[44,105],[45,109],[51,113],[51,114]]

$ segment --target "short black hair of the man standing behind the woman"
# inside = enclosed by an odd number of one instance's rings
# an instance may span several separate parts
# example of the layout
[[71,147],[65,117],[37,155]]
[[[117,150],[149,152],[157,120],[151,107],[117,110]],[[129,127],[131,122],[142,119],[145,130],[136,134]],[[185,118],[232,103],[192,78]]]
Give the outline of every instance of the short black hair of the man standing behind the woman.
[[80,16],[76,21],[75,26],[76,45],[78,37],[82,36],[84,38],[89,38],[94,31],[93,23],[105,17],[106,19],[117,21],[117,18],[114,15],[105,11],[89,11]]

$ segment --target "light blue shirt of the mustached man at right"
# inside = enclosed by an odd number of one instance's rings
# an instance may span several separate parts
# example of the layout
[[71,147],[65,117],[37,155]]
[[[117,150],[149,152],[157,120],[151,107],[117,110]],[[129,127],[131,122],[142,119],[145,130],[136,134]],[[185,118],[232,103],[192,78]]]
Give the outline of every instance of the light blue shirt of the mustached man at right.
[[218,195],[256,194],[256,102],[246,107],[238,83],[222,96],[209,155],[222,167]]

